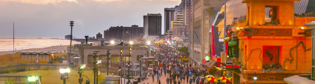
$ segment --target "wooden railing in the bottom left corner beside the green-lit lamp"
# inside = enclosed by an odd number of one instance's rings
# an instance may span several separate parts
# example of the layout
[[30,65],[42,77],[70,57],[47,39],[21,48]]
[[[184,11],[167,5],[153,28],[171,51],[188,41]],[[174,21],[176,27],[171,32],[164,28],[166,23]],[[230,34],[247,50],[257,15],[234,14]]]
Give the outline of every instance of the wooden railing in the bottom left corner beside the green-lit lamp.
[[[0,74],[0,83],[26,83],[26,77],[33,76],[33,75],[8,75],[8,74]],[[39,82],[42,80],[42,75],[39,76]]]

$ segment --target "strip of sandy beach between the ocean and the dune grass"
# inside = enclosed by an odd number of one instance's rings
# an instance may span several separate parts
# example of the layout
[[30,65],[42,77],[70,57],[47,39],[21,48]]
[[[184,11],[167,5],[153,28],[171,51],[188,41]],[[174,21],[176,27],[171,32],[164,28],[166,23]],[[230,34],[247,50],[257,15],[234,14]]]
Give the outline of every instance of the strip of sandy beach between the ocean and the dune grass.
[[[66,50],[66,47],[68,45],[64,46],[53,46],[53,47],[46,47],[46,48],[31,48],[31,49],[23,49],[23,50],[15,50],[16,52],[62,52],[64,53],[64,50]],[[13,51],[1,51],[0,55],[5,55],[5,54],[12,54]]]

